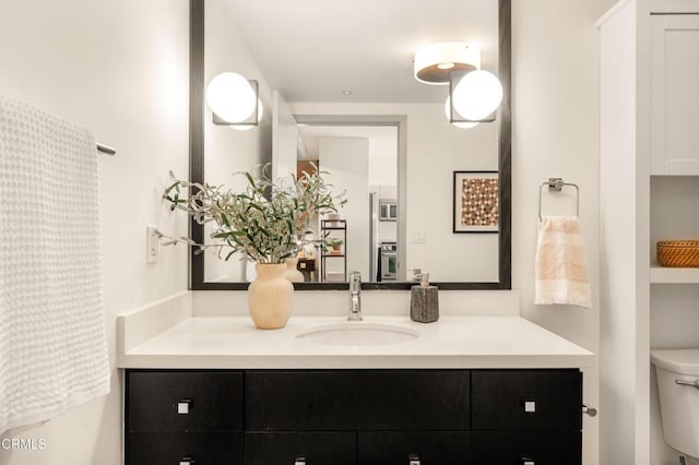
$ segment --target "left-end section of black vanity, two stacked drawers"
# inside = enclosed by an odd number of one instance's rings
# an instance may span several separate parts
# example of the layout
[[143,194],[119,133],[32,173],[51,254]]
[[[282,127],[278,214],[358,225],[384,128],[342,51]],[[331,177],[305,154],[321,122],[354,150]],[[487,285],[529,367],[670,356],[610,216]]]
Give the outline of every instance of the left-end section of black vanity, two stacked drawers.
[[126,457],[130,465],[239,465],[242,372],[126,372]]

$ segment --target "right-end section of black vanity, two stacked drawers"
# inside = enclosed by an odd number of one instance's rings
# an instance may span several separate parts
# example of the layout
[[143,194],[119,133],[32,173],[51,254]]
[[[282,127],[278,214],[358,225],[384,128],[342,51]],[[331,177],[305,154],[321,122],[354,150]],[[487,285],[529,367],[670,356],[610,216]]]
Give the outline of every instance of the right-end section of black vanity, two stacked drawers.
[[470,465],[579,465],[582,373],[472,370]]

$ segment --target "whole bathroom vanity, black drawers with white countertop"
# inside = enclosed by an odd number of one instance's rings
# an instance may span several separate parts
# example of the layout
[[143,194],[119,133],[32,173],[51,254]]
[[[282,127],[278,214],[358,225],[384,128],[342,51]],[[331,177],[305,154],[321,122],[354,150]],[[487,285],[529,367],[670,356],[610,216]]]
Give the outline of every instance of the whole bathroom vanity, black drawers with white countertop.
[[125,346],[126,463],[581,463],[588,350],[514,315],[343,320],[188,318]]

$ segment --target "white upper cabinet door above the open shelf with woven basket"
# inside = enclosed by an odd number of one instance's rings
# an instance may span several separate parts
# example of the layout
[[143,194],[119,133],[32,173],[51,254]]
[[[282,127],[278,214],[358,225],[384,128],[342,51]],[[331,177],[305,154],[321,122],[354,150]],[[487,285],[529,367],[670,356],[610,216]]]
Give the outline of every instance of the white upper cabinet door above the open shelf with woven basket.
[[651,175],[699,176],[699,14],[651,21]]

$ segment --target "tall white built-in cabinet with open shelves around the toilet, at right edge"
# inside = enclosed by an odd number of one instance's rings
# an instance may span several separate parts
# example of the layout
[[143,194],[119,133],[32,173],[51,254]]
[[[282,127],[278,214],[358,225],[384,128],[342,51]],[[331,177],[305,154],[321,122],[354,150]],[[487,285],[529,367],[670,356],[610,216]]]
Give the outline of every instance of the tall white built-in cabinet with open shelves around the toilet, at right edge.
[[699,272],[655,241],[699,238],[699,2],[629,0],[597,23],[601,76],[601,461],[674,465],[654,348],[699,347]]

